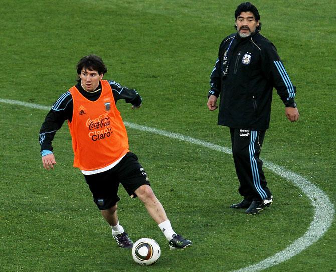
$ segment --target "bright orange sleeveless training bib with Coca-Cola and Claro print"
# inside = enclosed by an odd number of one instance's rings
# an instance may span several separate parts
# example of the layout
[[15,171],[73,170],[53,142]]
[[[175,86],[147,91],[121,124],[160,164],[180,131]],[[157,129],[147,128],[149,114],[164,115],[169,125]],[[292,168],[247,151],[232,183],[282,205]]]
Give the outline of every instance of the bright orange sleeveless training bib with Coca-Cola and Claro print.
[[101,95],[90,101],[74,86],[73,114],[68,121],[75,154],[74,167],[92,171],[104,168],[128,151],[128,136],[106,80],[101,80]]

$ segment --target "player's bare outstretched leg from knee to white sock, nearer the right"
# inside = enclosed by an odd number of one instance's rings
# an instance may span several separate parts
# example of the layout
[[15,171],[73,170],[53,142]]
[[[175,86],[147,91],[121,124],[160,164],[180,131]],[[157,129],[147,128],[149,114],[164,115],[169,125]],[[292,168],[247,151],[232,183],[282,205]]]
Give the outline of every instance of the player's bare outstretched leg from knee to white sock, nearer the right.
[[142,185],[135,190],[136,195],[144,203],[149,215],[157,224],[168,220],[165,210],[148,185]]

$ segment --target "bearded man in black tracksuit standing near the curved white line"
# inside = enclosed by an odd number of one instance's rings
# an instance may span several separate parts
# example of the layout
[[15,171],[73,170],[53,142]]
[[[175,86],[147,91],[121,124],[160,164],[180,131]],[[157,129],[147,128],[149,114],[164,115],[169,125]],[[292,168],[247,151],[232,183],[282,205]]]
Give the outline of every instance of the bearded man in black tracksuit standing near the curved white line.
[[257,8],[242,3],[235,19],[237,33],[226,37],[219,47],[207,106],[215,110],[220,96],[218,124],[230,127],[239,193],[244,197],[231,208],[246,208],[246,213],[257,214],[273,202],[259,159],[269,127],[273,87],[285,104],[287,118],[296,121],[299,113],[294,101],[296,88],[275,46],[260,34]]

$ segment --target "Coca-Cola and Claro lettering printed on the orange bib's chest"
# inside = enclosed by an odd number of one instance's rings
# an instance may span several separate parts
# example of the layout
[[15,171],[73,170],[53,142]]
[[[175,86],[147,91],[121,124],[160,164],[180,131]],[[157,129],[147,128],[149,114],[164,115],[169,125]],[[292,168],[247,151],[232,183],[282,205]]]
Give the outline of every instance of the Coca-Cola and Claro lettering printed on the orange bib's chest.
[[88,136],[93,140],[102,140],[108,138],[113,133],[110,126],[110,118],[108,114],[102,114],[95,119],[87,119],[86,126],[89,128]]

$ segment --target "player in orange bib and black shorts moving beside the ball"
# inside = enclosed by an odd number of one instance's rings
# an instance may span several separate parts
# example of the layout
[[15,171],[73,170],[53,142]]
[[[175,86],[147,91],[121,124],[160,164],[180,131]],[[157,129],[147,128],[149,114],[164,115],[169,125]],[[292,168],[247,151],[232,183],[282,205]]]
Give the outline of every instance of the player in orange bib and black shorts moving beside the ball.
[[130,197],[138,197],[167,238],[171,249],[183,249],[192,242],[175,233],[160,201],[156,198],[141,164],[129,151],[127,131],[116,101],[125,99],[139,108],[141,96],[134,89],[103,80],[107,68],[96,55],[83,57],[77,64],[78,83],[54,103],[41,126],[39,142],[43,167],[56,164],[52,140],[68,121],[74,151],[74,167],[83,173],[95,204],[112,228],[119,247],[132,248],[133,242],[119,224],[117,202],[119,183]]

